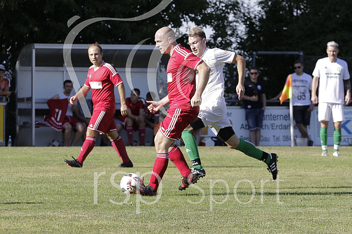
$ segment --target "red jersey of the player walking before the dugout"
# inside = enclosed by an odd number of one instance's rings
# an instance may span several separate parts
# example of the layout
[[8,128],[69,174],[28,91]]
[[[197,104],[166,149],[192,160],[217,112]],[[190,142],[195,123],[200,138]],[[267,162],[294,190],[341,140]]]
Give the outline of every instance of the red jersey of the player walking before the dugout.
[[84,86],[92,89],[93,108],[108,112],[115,112],[114,86],[123,81],[113,65],[102,62],[95,70],[92,65],[88,70],[88,76]]

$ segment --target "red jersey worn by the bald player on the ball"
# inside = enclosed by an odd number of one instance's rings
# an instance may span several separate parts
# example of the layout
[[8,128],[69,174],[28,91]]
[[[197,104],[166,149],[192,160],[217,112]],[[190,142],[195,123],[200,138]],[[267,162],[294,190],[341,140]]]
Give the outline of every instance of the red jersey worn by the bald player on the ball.
[[167,93],[170,108],[199,110],[191,107],[191,98],[195,93],[195,74],[202,60],[181,45],[174,47],[167,64]]

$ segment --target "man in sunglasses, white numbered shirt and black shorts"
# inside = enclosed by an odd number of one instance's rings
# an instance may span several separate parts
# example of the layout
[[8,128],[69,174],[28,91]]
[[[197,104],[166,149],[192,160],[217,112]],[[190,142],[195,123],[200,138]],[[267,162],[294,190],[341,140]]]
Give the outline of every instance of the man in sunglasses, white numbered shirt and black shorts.
[[[292,106],[294,106],[294,118],[302,138],[308,139],[308,146],[313,145],[309,138],[307,126],[310,124],[310,113],[313,111],[315,104],[310,101],[312,90],[312,77],[303,72],[304,66],[300,60],[294,63],[295,73],[292,73]],[[288,79],[288,77],[287,77]],[[286,80],[287,80],[286,79]],[[282,91],[271,101],[279,99]]]

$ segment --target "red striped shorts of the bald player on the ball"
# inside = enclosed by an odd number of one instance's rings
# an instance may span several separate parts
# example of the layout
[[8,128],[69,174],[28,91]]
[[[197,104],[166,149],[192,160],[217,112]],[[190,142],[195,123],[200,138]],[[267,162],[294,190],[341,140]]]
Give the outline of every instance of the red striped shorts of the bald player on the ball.
[[197,118],[199,111],[169,108],[167,116],[160,123],[159,131],[171,140],[179,140],[182,131]]

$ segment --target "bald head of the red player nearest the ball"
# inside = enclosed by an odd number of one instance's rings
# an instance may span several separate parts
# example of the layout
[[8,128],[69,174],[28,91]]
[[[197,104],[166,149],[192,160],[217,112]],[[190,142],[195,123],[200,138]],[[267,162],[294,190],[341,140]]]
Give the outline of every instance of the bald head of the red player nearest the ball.
[[162,54],[171,55],[171,50],[177,45],[175,32],[169,27],[162,27],[155,33],[155,47]]

